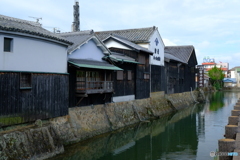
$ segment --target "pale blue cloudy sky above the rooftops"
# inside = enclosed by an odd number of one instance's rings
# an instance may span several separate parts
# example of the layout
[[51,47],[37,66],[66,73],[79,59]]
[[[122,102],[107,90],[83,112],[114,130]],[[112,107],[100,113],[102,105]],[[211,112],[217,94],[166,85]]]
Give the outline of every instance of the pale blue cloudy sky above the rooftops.
[[[70,32],[75,0],[0,0],[0,14]],[[79,0],[80,29],[158,27],[165,46],[193,45],[204,57],[240,66],[240,0]]]

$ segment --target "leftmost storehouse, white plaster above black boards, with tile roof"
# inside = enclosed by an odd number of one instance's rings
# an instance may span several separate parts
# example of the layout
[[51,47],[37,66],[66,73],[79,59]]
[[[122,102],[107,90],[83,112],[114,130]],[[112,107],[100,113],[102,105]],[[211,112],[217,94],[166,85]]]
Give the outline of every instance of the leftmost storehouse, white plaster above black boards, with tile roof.
[[70,44],[39,23],[0,15],[0,127],[68,114]]

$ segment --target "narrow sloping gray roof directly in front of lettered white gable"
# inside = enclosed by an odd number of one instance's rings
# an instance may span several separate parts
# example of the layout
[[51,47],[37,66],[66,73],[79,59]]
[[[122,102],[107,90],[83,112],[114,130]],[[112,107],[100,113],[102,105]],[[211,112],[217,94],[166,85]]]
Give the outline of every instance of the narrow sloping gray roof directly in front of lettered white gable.
[[121,37],[121,36],[118,36],[118,35],[115,35],[115,34],[110,35],[107,39],[104,40],[104,42],[107,41],[110,38],[112,38],[112,39],[114,39],[114,40],[116,40],[116,41],[118,41],[118,42],[120,42],[122,44],[125,44],[125,45],[127,45],[128,47],[130,47],[130,48],[132,48],[134,50],[143,51],[143,52],[146,52],[146,53],[151,54],[151,55],[153,54],[153,52],[149,51],[148,49],[146,49],[144,47],[141,47],[141,46],[139,46],[139,45],[137,45],[135,43],[132,43],[128,39],[126,39],[124,37]]

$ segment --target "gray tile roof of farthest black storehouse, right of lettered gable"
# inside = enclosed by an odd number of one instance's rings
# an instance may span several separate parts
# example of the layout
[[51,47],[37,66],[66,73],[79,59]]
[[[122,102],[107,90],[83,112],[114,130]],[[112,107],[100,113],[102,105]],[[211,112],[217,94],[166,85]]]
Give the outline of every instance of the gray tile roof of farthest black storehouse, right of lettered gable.
[[166,46],[164,48],[164,53],[171,54],[185,63],[188,63],[191,54],[193,53],[194,47],[190,46]]

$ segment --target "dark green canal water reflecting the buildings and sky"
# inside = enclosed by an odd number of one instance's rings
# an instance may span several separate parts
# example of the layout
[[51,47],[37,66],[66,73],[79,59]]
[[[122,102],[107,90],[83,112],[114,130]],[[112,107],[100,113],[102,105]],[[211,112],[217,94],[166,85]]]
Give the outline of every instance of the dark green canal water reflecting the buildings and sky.
[[216,92],[204,104],[70,145],[51,160],[212,160],[240,92]]

